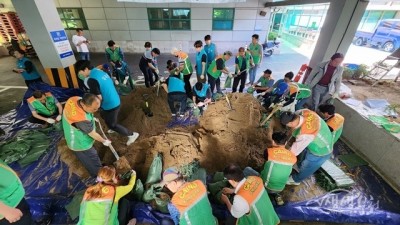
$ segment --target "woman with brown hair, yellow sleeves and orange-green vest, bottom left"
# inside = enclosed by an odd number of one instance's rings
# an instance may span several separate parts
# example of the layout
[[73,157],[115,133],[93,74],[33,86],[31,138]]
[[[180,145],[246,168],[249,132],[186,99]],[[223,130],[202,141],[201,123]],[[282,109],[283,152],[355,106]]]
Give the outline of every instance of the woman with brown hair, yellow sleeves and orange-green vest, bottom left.
[[132,191],[135,181],[136,172],[132,170],[128,185],[118,186],[115,168],[102,167],[97,184],[89,187],[83,196],[78,225],[127,224],[129,201],[121,198]]

